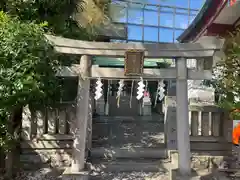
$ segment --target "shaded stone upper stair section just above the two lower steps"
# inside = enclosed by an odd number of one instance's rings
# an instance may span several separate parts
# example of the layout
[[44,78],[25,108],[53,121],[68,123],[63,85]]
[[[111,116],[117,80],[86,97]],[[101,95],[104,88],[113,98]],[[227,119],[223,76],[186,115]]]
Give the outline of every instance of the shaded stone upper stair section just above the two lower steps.
[[164,148],[163,123],[130,122],[93,125],[92,147],[135,146]]

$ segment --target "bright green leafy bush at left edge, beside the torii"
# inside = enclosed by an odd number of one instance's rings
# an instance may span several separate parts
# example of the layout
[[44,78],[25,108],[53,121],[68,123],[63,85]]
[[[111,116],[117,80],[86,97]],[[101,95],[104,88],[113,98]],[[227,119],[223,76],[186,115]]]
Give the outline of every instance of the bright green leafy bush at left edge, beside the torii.
[[26,104],[54,99],[59,65],[42,25],[23,23],[3,12],[0,47],[0,121],[4,123]]

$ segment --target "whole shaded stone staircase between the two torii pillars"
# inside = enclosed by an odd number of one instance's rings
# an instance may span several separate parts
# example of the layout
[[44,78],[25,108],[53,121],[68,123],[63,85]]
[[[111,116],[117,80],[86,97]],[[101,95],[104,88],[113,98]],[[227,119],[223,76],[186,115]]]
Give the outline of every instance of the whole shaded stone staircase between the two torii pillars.
[[162,116],[93,119],[92,180],[164,180],[169,165]]

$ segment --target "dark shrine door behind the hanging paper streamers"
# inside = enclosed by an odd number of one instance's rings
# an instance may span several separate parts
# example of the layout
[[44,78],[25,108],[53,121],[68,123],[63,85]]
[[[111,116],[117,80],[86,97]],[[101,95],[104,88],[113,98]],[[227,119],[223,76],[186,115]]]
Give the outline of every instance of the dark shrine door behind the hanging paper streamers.
[[[132,96],[131,96],[132,90]],[[122,95],[119,100],[116,98],[118,91],[118,81],[112,81],[109,93],[109,115],[110,116],[138,116],[140,104],[136,99],[137,82],[133,84],[132,81],[125,81]],[[130,105],[131,104],[131,105]]]

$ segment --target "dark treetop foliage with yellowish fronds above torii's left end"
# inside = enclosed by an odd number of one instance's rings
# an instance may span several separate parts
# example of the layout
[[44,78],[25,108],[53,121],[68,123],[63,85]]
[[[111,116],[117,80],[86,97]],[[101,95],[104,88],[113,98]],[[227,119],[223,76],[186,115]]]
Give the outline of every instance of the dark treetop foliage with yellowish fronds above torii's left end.
[[91,40],[94,26],[107,19],[108,0],[1,0],[0,9],[21,21],[47,22],[45,31]]

